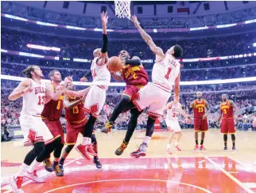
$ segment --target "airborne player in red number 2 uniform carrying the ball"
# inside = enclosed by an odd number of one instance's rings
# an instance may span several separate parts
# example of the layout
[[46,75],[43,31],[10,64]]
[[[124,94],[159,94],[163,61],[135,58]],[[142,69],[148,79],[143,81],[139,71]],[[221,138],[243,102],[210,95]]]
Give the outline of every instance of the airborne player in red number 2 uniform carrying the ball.
[[121,73],[114,74],[114,78],[118,81],[122,78],[122,80],[126,82],[126,89],[122,93],[121,100],[114,107],[111,118],[107,122],[106,126],[102,129],[102,132],[104,133],[111,131],[114,121],[118,118],[118,115],[131,109],[131,117],[128,123],[126,137],[122,141],[121,146],[115,150],[115,154],[118,156],[121,155],[123,150],[128,146],[130,138],[133,135],[137,125],[138,116],[142,113],[136,111],[131,100],[134,95],[138,93],[138,91],[142,89],[142,87],[145,86],[149,81],[148,74],[142,66],[141,60],[137,56],[134,56],[132,59],[128,59],[130,57],[129,53],[127,51],[120,51],[119,57],[125,58],[123,61],[124,66],[122,67]]

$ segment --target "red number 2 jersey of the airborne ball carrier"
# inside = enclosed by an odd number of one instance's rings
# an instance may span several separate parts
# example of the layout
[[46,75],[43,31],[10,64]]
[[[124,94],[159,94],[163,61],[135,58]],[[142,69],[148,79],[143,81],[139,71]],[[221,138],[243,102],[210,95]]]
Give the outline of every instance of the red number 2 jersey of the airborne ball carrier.
[[149,76],[142,66],[126,65],[122,67],[122,79],[126,85],[146,85]]

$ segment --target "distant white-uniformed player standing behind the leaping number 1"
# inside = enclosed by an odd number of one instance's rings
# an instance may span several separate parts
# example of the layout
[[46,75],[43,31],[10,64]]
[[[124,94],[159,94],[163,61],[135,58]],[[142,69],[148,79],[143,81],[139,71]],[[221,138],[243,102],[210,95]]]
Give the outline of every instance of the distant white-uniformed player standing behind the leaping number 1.
[[170,148],[171,148],[171,143],[173,141],[173,138],[176,137],[176,142],[174,143],[174,147],[178,150],[181,151],[181,149],[178,146],[178,142],[180,141],[181,138],[181,128],[180,128],[180,123],[178,122],[178,116],[184,115],[184,117],[188,117],[186,113],[182,110],[180,102],[174,104],[173,101],[169,102],[169,104],[166,105],[164,112],[167,111],[167,115],[165,118],[165,123],[171,132],[169,139],[168,139],[168,144],[167,144],[167,152],[169,154],[172,154]]

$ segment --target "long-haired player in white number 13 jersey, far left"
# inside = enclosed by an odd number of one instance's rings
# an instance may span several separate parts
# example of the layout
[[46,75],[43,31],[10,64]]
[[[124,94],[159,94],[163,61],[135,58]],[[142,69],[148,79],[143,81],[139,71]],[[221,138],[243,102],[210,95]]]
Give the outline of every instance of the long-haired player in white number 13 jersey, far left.
[[[43,161],[45,155],[52,152],[55,144],[51,132],[41,119],[41,112],[45,107],[46,97],[57,99],[63,93],[60,86],[56,93],[53,93],[52,89],[49,89],[49,86],[41,81],[44,75],[39,66],[28,66],[22,73],[25,74],[26,78],[14,89],[8,99],[17,100],[23,96],[20,116],[21,130],[24,135],[24,145],[33,144],[33,149],[25,156],[17,175],[10,178],[10,185],[14,192],[23,192],[21,190],[23,177],[37,182],[44,181],[37,176],[37,171],[34,170],[36,165],[33,164],[33,161]],[[65,78],[65,82],[68,81],[70,80]],[[35,159],[36,157],[37,159]]]

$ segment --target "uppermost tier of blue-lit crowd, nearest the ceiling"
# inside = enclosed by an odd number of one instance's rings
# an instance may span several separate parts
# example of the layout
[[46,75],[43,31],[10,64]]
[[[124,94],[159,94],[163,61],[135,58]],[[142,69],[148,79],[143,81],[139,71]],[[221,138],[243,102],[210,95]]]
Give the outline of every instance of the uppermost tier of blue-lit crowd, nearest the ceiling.
[[[1,11],[2,13],[25,17],[36,21],[45,21],[59,25],[72,25],[83,28],[99,28],[101,23],[98,16],[84,17],[69,13],[56,13],[45,9],[20,5],[16,2],[3,2]],[[142,17],[142,23],[145,28],[193,28],[204,27],[205,25],[232,24],[252,20],[255,19],[255,17],[256,8],[250,7],[250,9],[240,9],[222,14],[208,14],[204,16],[193,16],[191,13],[189,17],[163,17],[153,19]],[[111,18],[108,25],[110,28],[117,29],[134,28],[130,22],[118,19],[117,17]]]

